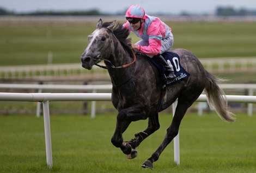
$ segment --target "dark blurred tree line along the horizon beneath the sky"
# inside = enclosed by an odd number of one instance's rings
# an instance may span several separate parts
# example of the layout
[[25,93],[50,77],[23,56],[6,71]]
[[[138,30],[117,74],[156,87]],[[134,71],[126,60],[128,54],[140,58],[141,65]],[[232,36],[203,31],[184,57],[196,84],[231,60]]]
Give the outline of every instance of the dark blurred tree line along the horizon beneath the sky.
[[[122,11],[122,13],[117,12],[115,15],[120,15],[125,13],[125,11]],[[9,11],[7,9],[4,9],[0,7],[0,15],[33,15],[33,16],[40,16],[40,15],[48,15],[48,16],[57,16],[57,15],[71,15],[71,16],[86,16],[86,15],[113,15],[113,14],[106,14],[101,13],[97,9],[91,9],[91,10],[81,10],[81,11],[33,11],[28,13],[15,13],[14,11]],[[187,12],[182,12],[181,15],[193,15]],[[204,14],[205,15],[205,14]],[[217,16],[255,16],[256,10],[248,10],[245,8],[242,9],[234,9],[233,7],[217,7],[215,10],[215,15]]]

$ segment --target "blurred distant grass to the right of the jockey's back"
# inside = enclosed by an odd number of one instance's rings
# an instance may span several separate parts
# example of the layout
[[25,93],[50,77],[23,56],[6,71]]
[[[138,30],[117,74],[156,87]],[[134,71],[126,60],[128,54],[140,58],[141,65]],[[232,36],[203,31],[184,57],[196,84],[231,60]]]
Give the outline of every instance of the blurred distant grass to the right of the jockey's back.
[[191,50],[198,58],[256,55],[255,22],[169,22],[174,47]]

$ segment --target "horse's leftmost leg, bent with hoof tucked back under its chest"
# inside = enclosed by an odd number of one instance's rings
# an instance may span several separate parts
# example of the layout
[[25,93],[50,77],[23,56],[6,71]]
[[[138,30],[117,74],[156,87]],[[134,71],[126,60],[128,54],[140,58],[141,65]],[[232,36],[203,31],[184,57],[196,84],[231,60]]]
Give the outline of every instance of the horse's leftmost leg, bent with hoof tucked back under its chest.
[[123,140],[123,133],[132,121],[142,119],[147,119],[147,117],[143,110],[138,108],[123,109],[117,115],[117,125],[111,142],[115,147],[119,147],[125,155],[129,155],[132,152],[132,147]]

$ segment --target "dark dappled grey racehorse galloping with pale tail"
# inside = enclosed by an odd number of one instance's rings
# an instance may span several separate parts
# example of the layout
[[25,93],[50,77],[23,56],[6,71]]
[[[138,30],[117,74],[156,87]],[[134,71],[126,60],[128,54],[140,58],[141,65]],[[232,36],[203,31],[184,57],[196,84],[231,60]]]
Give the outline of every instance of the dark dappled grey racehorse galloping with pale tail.
[[[136,147],[160,128],[159,112],[168,108],[178,99],[175,114],[167,129],[162,144],[142,164],[143,168],[153,168],[153,162],[159,159],[162,151],[179,132],[179,126],[187,109],[205,91],[209,105],[215,109],[224,121],[235,121],[234,114],[228,110],[224,92],[218,87],[219,79],[206,71],[196,56],[190,51],[177,48],[170,51],[180,57],[181,66],[190,73],[190,77],[166,88],[162,94],[162,83],[157,80],[153,66],[141,54],[131,48],[131,40],[127,39],[129,30],[120,23],[105,22],[100,19],[96,29],[88,35],[88,46],[81,55],[82,66],[92,69],[100,61],[104,61],[111,78],[112,103],[118,110],[117,124],[111,139],[115,147],[119,147],[127,158],[137,156]],[[161,101],[162,98],[162,101]],[[136,133],[135,138],[124,141],[122,134],[132,121],[148,119],[148,127]]]

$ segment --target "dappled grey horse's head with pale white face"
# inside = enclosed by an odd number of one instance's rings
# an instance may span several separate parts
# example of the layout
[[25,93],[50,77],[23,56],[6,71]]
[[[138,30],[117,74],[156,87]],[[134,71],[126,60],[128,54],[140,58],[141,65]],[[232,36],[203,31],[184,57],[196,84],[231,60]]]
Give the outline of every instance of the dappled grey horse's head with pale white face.
[[88,46],[81,55],[82,66],[85,69],[92,69],[93,65],[99,63],[102,59],[108,59],[114,49],[112,37],[115,21],[102,24],[100,19],[97,22],[96,29],[88,35]]

